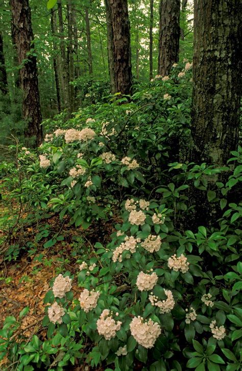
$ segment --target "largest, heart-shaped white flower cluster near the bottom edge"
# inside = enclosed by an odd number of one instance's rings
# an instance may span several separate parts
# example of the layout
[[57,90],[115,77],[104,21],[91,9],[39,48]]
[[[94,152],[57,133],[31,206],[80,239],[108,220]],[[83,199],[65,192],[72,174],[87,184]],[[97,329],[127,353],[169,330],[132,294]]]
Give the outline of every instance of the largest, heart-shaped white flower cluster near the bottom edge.
[[130,324],[131,335],[142,347],[154,347],[156,339],[161,333],[160,326],[152,319],[144,320],[143,317],[134,317]]

